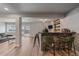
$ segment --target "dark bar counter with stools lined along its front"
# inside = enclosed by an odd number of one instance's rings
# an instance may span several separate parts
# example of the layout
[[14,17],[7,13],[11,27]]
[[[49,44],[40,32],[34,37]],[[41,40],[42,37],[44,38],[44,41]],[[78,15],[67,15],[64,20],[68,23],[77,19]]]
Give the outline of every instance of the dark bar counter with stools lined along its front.
[[[43,55],[50,51],[51,55],[56,55],[60,51],[65,51],[68,56],[76,55],[74,37],[75,33],[41,33],[41,50]],[[53,51],[53,52],[52,52]],[[65,56],[65,55],[64,55]]]

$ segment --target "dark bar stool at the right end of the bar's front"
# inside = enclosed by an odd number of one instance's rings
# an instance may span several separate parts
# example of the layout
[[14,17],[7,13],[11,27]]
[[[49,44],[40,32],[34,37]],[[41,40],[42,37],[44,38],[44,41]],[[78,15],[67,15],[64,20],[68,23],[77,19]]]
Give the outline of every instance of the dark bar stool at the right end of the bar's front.
[[68,55],[70,55],[70,50],[72,50],[72,47],[74,49],[74,54],[76,55],[74,39],[75,39],[75,37],[70,36],[70,37],[65,37],[62,40],[63,49],[67,49],[68,50]]

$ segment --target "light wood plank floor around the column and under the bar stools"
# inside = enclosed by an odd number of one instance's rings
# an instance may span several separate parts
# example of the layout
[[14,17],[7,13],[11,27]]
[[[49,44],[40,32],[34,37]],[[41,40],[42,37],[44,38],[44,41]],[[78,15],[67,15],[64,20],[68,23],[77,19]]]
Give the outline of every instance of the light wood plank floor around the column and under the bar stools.
[[[53,51],[48,51],[43,54],[36,42],[33,47],[33,37],[23,37],[22,46],[16,47],[14,42],[4,42],[0,44],[0,56],[53,56]],[[73,56],[73,52],[71,52]],[[78,54],[77,54],[78,55]],[[56,56],[68,56],[65,51],[56,51]]]

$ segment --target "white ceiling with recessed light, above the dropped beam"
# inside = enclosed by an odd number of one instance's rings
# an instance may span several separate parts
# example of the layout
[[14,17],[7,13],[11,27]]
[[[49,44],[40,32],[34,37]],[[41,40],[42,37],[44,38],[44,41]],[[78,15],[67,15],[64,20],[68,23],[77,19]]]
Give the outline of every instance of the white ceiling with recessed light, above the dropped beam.
[[[0,3],[0,14],[68,13],[77,3]],[[9,11],[5,11],[4,8]]]

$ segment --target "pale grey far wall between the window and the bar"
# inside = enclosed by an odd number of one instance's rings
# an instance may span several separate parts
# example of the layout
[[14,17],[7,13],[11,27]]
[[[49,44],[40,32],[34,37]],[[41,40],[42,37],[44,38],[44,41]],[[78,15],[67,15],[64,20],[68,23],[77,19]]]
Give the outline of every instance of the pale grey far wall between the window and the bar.
[[42,22],[32,22],[30,23],[30,34],[35,35],[44,29],[44,24]]

